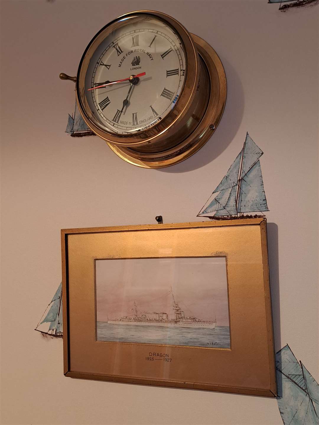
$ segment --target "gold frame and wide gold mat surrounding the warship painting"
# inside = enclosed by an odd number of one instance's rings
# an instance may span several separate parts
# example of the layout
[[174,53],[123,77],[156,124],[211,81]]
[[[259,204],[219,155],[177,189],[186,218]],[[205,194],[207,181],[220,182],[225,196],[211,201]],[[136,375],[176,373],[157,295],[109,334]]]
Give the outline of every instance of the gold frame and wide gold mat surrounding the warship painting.
[[[265,218],[62,229],[61,243],[67,377],[276,396]],[[230,348],[98,340],[98,260],[214,257],[226,261]],[[156,353],[171,360],[146,360]]]

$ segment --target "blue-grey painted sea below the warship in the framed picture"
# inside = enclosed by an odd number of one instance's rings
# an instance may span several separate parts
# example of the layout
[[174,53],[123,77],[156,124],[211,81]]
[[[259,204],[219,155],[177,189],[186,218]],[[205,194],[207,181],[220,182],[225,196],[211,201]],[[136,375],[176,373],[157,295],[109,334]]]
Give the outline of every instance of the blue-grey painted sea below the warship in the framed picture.
[[165,326],[119,325],[97,322],[98,341],[168,344],[194,347],[231,348],[228,326],[171,328]]

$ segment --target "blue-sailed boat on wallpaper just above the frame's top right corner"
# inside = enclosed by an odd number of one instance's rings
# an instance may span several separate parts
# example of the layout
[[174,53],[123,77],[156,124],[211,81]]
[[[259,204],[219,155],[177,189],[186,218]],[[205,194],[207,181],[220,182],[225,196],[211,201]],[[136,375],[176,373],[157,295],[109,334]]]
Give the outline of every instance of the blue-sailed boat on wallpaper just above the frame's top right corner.
[[262,150],[247,133],[244,146],[197,217],[240,218],[269,211],[259,158]]

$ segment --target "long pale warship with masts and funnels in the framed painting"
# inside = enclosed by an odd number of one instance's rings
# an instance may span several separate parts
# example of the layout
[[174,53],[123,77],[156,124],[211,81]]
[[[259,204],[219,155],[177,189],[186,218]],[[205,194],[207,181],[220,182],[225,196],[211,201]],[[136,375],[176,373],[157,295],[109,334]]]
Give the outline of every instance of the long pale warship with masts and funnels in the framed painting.
[[202,319],[197,319],[195,316],[185,316],[185,312],[179,307],[174,298],[173,291],[168,292],[171,294],[173,301],[173,318],[169,317],[165,312],[141,312],[137,308],[137,304],[133,303],[133,316],[123,316],[120,319],[108,320],[107,323],[116,325],[137,325],[137,326],[166,326],[174,328],[208,328],[215,329],[216,318],[214,322],[209,322]]

